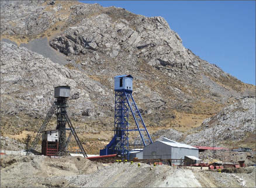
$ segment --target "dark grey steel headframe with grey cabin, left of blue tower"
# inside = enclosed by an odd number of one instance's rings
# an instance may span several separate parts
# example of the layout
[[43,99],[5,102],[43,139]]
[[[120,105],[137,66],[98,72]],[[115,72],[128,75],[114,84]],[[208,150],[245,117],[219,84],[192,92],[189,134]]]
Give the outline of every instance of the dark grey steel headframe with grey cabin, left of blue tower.
[[[69,151],[68,144],[70,143],[71,137],[74,136],[75,141],[84,157],[87,157],[84,147],[79,140],[75,128],[72,126],[72,123],[67,115],[67,99],[70,97],[70,86],[58,86],[54,88],[54,98],[55,101],[51,106],[51,109],[47,113],[46,119],[39,128],[32,145],[27,152],[27,155],[35,152],[36,146],[39,140],[42,138],[42,154],[44,155],[58,155],[63,156],[67,155]],[[47,124],[49,123],[53,114],[56,114],[57,117],[57,127],[56,127],[56,138],[51,136],[52,131],[45,131]],[[69,128],[66,128],[68,125]],[[70,131],[68,137],[66,137],[67,131]],[[48,134],[50,132],[50,134]],[[54,132],[54,131],[53,131]],[[48,135],[44,135],[48,134]],[[44,138],[45,136],[45,138]],[[50,138],[50,139],[49,139]]]

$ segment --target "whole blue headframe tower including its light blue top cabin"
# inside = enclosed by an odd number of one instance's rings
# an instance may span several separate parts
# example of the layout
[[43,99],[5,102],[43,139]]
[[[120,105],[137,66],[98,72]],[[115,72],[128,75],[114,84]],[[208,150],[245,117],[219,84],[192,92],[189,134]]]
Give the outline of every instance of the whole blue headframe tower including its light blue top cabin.
[[[141,151],[141,148],[152,143],[132,92],[132,75],[115,76],[114,136],[109,144],[101,149],[100,155],[119,154],[129,158],[129,151]],[[132,120],[130,121],[129,114],[132,114]],[[129,142],[129,135],[136,138],[133,143]]]

